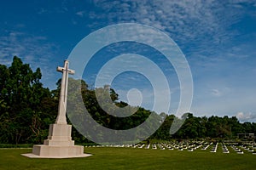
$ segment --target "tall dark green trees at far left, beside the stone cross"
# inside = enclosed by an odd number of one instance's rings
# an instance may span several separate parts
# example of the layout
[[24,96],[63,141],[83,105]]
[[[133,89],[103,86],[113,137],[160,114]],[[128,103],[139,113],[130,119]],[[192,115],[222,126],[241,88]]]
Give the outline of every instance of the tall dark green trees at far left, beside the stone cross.
[[45,137],[42,127],[48,123],[44,122],[48,113],[42,102],[52,98],[49,89],[40,82],[40,69],[33,72],[30,65],[15,56],[9,68],[0,65],[0,71],[0,142],[42,142]]

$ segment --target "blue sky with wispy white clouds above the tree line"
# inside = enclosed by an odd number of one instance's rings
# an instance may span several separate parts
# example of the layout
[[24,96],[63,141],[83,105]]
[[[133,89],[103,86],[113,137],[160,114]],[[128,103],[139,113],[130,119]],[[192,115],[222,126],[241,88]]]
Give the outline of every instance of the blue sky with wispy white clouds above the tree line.
[[[40,67],[44,87],[55,88],[61,77],[55,67],[63,65],[90,32],[132,22],[160,29],[183,51],[194,81],[190,111],[195,116],[227,115],[256,122],[256,1],[10,0],[0,4],[0,63],[10,65],[17,55],[33,69]],[[122,45],[113,44],[97,55],[125,53]],[[126,44],[126,48],[133,46]],[[160,54],[150,55],[142,45],[135,46],[134,52],[148,55],[163,70],[171,68],[166,77],[170,77],[172,113],[180,89],[175,71]],[[101,57],[91,60],[84,73],[86,82],[92,83],[94,70],[103,61]],[[112,87],[124,100],[129,88],[140,89],[143,106],[150,109],[152,86],[142,75],[125,72],[114,79]]]

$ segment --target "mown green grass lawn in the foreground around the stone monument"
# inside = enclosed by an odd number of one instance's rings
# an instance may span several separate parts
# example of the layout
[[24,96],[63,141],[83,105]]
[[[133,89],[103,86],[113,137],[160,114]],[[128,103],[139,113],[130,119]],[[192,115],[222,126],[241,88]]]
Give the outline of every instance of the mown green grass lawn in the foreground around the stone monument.
[[[231,148],[229,148],[231,150]],[[146,150],[133,148],[84,148],[93,156],[68,159],[28,158],[32,149],[1,149],[0,169],[255,169],[256,155],[210,153],[209,150]]]

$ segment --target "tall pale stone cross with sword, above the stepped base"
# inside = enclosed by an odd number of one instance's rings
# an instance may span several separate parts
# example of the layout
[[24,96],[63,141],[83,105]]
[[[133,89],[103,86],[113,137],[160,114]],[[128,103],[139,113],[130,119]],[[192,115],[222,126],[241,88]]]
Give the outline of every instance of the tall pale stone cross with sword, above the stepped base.
[[61,94],[59,99],[58,116],[55,121],[56,124],[67,124],[66,120],[66,108],[67,108],[67,82],[68,74],[74,74],[75,71],[68,69],[68,60],[64,61],[64,67],[57,67],[57,71],[62,72],[61,79]]

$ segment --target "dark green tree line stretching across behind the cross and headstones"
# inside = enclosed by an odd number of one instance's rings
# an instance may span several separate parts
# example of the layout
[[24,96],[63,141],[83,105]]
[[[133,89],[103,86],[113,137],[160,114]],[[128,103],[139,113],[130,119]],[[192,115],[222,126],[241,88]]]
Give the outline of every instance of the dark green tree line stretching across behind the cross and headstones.
[[[0,65],[0,143],[4,144],[40,144],[48,136],[49,124],[55,122],[58,109],[61,80],[56,82],[56,89],[44,88],[40,82],[42,77],[38,68],[32,71],[28,64],[24,64],[18,57],[14,57],[8,67]],[[76,83],[78,80],[71,79]],[[79,81],[81,82],[81,81]],[[71,83],[70,87],[73,86]],[[82,98],[87,111],[96,122],[111,129],[124,130],[137,127],[148,116],[154,115],[152,124],[162,121],[158,130],[149,139],[198,139],[198,138],[228,138],[235,139],[237,133],[256,133],[255,122],[239,122],[236,116],[193,116],[187,113],[187,119],[177,133],[170,135],[169,130],[175,118],[166,113],[156,114],[143,107],[133,107],[119,101],[119,95],[108,86],[96,89],[88,88],[82,81]],[[101,96],[96,96],[101,94]],[[108,97],[110,95],[110,98]],[[107,97],[106,97],[107,96]],[[109,100],[102,109],[97,99]],[[126,107],[136,112],[127,117],[109,115],[110,104],[122,108]],[[166,117],[163,119],[163,117]],[[67,120],[69,122],[69,120]],[[71,123],[71,122],[69,122]],[[137,132],[141,133],[141,132]],[[73,139],[77,143],[88,143],[75,128]]]

